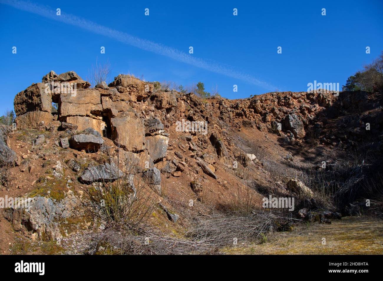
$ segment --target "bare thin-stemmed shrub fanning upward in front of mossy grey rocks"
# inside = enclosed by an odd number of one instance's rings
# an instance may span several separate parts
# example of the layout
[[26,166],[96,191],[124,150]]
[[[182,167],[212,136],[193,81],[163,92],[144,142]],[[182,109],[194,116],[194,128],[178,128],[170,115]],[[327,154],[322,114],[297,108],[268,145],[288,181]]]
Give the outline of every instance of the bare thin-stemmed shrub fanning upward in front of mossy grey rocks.
[[[105,179],[92,184],[85,191],[83,205],[87,207],[88,214],[105,224],[105,227],[145,229],[156,209],[158,195],[146,183],[141,171],[137,170],[140,163],[129,157],[122,159],[123,155],[121,148],[118,148],[118,157],[110,164],[110,174],[116,180]],[[95,171],[97,177],[101,176],[97,173],[102,171]]]

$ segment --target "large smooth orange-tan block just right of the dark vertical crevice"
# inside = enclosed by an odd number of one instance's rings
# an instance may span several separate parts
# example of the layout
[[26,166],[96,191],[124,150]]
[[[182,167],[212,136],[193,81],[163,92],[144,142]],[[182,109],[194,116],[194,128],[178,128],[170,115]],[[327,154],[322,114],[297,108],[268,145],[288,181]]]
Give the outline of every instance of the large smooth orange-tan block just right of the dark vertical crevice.
[[144,120],[137,118],[133,112],[126,112],[126,114],[123,117],[111,118],[112,140],[127,151],[144,150]]

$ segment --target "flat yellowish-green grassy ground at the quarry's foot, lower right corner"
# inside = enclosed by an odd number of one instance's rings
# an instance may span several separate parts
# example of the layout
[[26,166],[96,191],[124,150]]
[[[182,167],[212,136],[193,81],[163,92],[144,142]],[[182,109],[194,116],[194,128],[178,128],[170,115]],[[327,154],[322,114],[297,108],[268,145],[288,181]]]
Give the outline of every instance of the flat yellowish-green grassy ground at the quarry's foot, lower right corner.
[[[326,244],[323,244],[323,238]],[[345,217],[332,224],[301,224],[291,232],[274,233],[263,244],[223,249],[227,254],[383,254],[381,219]]]

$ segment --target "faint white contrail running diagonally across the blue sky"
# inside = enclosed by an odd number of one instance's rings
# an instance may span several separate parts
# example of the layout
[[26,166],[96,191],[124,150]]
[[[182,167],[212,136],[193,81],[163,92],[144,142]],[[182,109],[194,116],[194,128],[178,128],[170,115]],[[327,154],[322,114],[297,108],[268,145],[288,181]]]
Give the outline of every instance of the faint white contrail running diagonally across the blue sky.
[[177,60],[178,62],[187,63],[189,65],[203,68],[211,72],[215,72],[215,73],[226,75],[232,78],[240,79],[248,83],[261,86],[262,88],[265,88],[265,89],[273,90],[276,88],[275,86],[270,85],[264,81],[260,81],[251,75],[232,70],[231,68],[224,66],[222,64],[219,64],[216,62],[207,62],[206,60],[195,58],[191,54],[181,52],[180,50],[174,49],[172,47],[168,47],[168,46],[155,43],[146,39],[141,39],[136,36],[127,34],[125,32],[117,31],[115,29],[107,28],[105,26],[94,23],[92,21],[88,21],[87,19],[83,19],[75,15],[70,15],[65,13],[63,14],[63,11],[61,11],[61,16],[57,16],[56,9],[53,9],[49,6],[43,6],[43,5],[35,4],[29,1],[18,1],[18,0],[16,1],[0,0],[0,3],[12,6],[18,10],[27,11],[30,13],[43,16],[45,18],[54,19],[56,21],[61,21],[66,24],[74,25],[79,28],[88,30],[90,32],[113,38],[124,44],[132,45],[139,49],[147,50],[155,54],[164,55],[174,60]]

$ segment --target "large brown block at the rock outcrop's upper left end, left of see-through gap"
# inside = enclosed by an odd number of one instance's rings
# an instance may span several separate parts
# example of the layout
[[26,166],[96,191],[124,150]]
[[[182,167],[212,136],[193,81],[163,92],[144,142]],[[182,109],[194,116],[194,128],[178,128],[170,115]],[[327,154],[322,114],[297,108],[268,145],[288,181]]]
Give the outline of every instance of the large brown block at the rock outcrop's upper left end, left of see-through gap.
[[17,116],[31,111],[52,112],[52,94],[46,93],[44,83],[34,83],[24,91],[16,94],[14,99],[15,114]]

